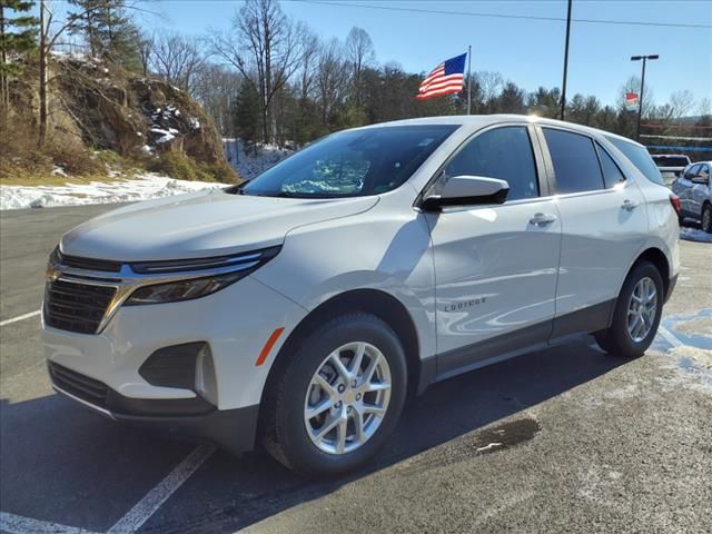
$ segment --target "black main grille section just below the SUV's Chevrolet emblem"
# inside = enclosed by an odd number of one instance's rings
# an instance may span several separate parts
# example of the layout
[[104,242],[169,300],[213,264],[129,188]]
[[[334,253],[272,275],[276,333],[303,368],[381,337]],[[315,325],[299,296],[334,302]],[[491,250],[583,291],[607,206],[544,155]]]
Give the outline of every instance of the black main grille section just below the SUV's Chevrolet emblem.
[[66,280],[48,281],[44,322],[61,330],[96,334],[115,294],[115,287]]

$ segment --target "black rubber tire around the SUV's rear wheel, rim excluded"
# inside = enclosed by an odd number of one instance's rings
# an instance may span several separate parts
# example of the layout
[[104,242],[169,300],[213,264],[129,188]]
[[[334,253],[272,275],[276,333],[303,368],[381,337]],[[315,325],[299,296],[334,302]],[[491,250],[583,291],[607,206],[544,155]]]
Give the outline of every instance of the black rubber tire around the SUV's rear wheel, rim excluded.
[[[636,284],[645,277],[651,278],[655,284],[657,305],[652,328],[644,339],[635,342],[627,330],[627,308]],[[647,350],[647,347],[653,343],[655,334],[657,333],[657,327],[660,326],[664,300],[663,287],[663,279],[660,276],[657,267],[650,261],[640,261],[635,264],[625,278],[621,294],[616,299],[611,327],[606,330],[601,330],[594,334],[599,346],[613,356],[621,356],[625,358],[636,358],[642,356],[643,353]]]

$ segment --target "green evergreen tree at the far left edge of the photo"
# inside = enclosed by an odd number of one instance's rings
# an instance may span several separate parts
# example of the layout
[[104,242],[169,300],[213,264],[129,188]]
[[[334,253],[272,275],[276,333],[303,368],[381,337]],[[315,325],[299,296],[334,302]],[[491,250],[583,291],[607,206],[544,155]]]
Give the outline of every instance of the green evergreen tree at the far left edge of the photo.
[[[10,108],[10,78],[22,72],[20,56],[37,48],[39,21],[28,14],[34,1],[0,0],[0,110]],[[11,17],[11,12],[17,16]]]

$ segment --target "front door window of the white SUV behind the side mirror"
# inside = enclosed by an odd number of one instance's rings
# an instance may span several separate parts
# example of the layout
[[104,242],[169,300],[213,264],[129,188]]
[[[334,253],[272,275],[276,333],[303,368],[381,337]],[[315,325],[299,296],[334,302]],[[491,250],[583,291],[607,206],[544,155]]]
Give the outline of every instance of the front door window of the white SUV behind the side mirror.
[[445,179],[463,175],[506,180],[507,200],[537,197],[536,165],[526,127],[505,126],[475,137],[445,167]]

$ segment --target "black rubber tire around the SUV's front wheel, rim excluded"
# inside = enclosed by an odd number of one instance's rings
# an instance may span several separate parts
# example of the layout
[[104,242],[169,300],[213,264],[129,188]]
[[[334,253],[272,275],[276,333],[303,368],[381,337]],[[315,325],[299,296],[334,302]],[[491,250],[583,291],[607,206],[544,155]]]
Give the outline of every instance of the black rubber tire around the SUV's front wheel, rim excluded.
[[[324,358],[352,342],[377,347],[390,370],[390,400],[380,426],[359,448],[340,455],[317,448],[304,422],[304,402],[312,377]],[[403,345],[393,329],[368,314],[344,315],[308,335],[279,372],[267,392],[263,427],[265,448],[288,468],[308,476],[338,475],[367,462],[395,428],[407,390],[407,367]]]

